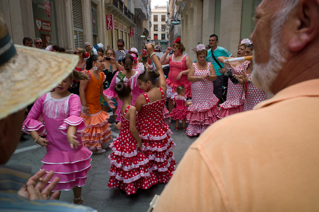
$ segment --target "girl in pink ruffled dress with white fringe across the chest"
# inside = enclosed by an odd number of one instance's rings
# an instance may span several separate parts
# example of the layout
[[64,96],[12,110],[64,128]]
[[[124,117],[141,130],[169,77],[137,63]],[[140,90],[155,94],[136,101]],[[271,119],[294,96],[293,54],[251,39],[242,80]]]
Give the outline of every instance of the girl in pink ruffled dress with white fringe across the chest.
[[[53,178],[60,178],[54,190],[73,189],[73,203],[82,204],[81,190],[85,185],[87,172],[91,169],[92,152],[83,147],[79,137],[82,135],[85,123],[80,117],[80,97],[67,90],[72,79],[78,81],[88,77],[74,70],[69,77],[58,84],[55,91],[40,97],[23,122],[22,130],[31,134],[36,143],[47,147],[47,154],[41,161],[44,163],[41,169],[53,170],[55,172]],[[41,114],[45,126],[37,121]],[[39,136],[45,128],[46,139]]]

